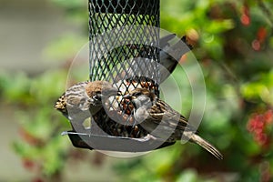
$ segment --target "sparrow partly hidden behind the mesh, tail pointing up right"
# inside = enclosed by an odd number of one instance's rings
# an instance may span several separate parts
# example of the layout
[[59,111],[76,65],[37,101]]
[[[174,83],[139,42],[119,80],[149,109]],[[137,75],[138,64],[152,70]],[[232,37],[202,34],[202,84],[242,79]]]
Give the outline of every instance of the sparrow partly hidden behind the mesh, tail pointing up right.
[[[131,61],[121,63],[125,70],[116,76],[114,82],[126,79],[132,76],[147,76],[153,78],[159,84],[164,82],[168,76],[175,70],[180,58],[193,46],[187,43],[187,36],[183,36],[176,41],[176,35],[166,35],[160,38],[159,46],[159,64],[154,59],[151,48],[142,48],[140,53]],[[154,48],[154,47],[153,47]],[[157,75],[157,69],[159,75]]]

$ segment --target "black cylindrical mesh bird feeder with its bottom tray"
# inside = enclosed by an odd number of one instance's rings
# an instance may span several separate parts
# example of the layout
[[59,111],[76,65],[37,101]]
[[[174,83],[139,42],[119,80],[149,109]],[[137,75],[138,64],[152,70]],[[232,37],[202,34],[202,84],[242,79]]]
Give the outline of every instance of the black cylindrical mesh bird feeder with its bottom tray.
[[[160,0],[89,0],[90,80],[106,80],[126,93],[139,84],[159,96]],[[120,100],[111,105],[123,106]],[[68,132],[73,145],[100,150],[143,152],[173,143],[147,136],[132,113],[115,116],[101,109],[84,132]],[[126,115],[126,116],[125,116]]]

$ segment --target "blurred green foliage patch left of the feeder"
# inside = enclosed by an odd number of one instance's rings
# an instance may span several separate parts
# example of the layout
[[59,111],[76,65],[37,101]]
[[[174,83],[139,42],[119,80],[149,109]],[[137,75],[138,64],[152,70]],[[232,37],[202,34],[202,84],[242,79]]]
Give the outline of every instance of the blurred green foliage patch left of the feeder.
[[47,71],[31,78],[18,73],[1,76],[5,84],[3,97],[16,103],[16,119],[21,124],[20,136],[13,147],[24,160],[40,166],[39,173],[51,177],[62,169],[70,143],[60,135],[68,122],[53,112],[54,100],[63,92],[66,74],[61,70]]

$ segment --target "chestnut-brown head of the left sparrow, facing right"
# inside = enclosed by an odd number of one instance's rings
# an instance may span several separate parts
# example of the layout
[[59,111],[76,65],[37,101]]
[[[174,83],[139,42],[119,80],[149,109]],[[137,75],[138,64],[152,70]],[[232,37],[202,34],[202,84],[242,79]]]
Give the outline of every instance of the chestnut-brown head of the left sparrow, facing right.
[[103,97],[119,96],[120,92],[107,81],[94,81],[87,84],[86,94],[93,101],[92,104],[101,105]]

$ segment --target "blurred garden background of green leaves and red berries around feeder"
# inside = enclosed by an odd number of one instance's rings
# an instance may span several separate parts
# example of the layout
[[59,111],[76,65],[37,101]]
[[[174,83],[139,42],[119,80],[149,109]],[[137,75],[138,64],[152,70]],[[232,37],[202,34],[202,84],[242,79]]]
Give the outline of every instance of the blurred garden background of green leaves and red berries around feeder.
[[[70,126],[53,109],[88,40],[87,1],[0,0],[0,180],[273,181],[272,9],[267,0],[162,0],[161,27],[195,46],[207,86],[200,135],[224,160],[179,142],[116,158],[72,147],[60,136]],[[173,76],[188,116],[181,71]]]

